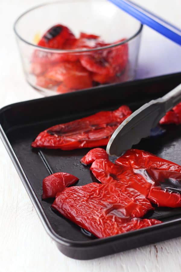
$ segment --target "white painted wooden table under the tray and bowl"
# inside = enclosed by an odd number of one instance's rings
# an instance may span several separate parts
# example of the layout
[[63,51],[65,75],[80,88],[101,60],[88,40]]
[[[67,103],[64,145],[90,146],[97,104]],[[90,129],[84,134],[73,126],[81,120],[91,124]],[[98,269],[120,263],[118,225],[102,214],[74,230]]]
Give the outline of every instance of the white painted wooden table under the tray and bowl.
[[[15,18],[41,1],[0,2],[0,108],[41,97],[24,79],[12,30]],[[162,11],[164,17],[171,12],[171,21],[181,26],[181,0],[137,2]],[[173,2],[176,6],[173,6]],[[169,3],[172,3],[172,7]],[[145,27],[137,77],[180,70],[181,47]],[[77,261],[64,256],[44,230],[1,141],[0,154],[0,271],[181,271],[181,238],[90,261]]]

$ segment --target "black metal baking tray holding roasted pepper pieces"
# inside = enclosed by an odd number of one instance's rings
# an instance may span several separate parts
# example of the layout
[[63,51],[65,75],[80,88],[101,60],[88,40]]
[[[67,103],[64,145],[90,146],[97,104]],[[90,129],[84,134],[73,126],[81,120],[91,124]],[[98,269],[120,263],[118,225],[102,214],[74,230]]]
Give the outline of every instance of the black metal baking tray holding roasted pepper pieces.
[[[76,186],[95,181],[79,160],[89,149],[73,151],[31,148],[37,134],[59,123],[113,110],[126,104],[134,111],[145,102],[163,96],[181,81],[181,73],[100,86],[84,91],[8,105],[0,110],[0,136],[22,183],[48,234],[59,250],[75,259],[92,259],[150,243],[178,237],[181,208],[156,208],[145,218],[164,223],[108,238],[86,235],[78,225],[51,209],[53,199],[43,201],[42,180],[62,171],[79,177]],[[167,125],[164,135],[143,139],[135,147],[181,164],[181,126]]]

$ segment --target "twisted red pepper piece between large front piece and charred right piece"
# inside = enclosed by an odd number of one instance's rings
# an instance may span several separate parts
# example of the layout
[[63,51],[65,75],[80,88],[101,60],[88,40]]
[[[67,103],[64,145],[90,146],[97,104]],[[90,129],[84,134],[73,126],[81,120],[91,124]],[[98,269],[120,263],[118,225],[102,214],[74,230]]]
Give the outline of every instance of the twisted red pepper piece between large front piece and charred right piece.
[[136,190],[144,196],[148,196],[154,181],[144,169],[129,169],[124,171],[122,166],[113,164],[109,160],[95,160],[90,167],[93,175],[101,183],[119,183],[122,191],[129,193]]

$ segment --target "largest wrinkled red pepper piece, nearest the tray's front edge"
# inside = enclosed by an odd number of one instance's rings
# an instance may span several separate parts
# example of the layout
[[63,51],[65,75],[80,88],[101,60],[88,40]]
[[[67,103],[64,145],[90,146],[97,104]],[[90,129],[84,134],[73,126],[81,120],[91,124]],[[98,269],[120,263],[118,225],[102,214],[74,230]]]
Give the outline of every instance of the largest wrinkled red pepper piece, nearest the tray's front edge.
[[52,207],[98,238],[161,223],[155,219],[132,218],[139,215],[138,209],[144,206],[144,203],[140,202],[139,206],[135,203],[133,210],[132,202],[133,199],[112,184],[90,183],[66,188],[57,195]]

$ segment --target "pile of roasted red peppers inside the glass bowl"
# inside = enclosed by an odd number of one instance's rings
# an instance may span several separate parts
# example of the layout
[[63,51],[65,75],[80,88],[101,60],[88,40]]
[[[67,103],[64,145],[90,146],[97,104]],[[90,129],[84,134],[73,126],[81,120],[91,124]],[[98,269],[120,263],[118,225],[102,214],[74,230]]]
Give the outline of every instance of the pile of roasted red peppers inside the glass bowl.
[[[50,80],[59,82],[57,92],[73,92],[78,89],[87,89],[100,83],[122,82],[129,78],[128,44],[116,45],[125,39],[112,44],[115,47],[101,50],[91,50],[112,45],[104,42],[94,34],[80,33],[78,38],[69,28],[57,24],[50,28],[40,39],[38,45],[46,48],[59,49],[60,52],[49,52],[37,49],[33,52],[30,73],[37,78],[37,85],[52,88]],[[88,51],[90,49],[90,51]],[[76,50],[77,52],[67,52]],[[81,52],[86,50],[86,52]],[[65,63],[66,67],[65,67]],[[79,63],[79,67],[75,63]],[[70,69],[67,70],[69,64]],[[62,79],[65,68],[66,77]],[[55,88],[53,88],[55,89]]]

